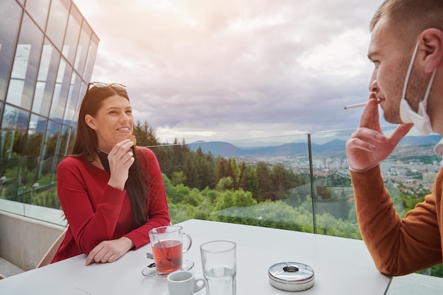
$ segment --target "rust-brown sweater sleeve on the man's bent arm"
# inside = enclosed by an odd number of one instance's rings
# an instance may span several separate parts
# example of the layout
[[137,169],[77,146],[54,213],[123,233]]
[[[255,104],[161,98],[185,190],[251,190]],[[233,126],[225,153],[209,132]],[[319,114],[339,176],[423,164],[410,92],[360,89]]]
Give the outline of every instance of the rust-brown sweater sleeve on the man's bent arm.
[[380,272],[403,275],[442,262],[435,195],[400,219],[379,166],[350,174],[359,229]]

